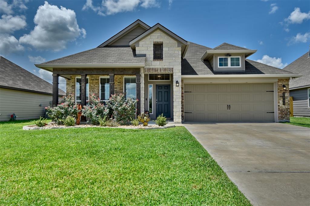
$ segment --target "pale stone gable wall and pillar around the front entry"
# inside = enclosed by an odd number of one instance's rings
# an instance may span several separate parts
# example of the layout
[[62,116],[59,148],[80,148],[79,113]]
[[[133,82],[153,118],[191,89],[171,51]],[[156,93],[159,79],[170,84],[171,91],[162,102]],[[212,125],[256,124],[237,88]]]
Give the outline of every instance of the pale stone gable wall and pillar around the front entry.
[[[158,42],[163,44],[163,60],[154,61],[153,44]],[[178,47],[178,42],[157,29],[139,41],[139,45],[136,46],[136,54],[146,54],[145,68],[173,68],[173,92],[171,92],[173,94],[173,121],[180,123],[182,121],[181,85],[178,87],[175,85],[176,81],[182,84],[181,47]]]

